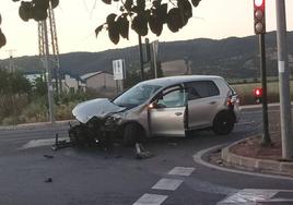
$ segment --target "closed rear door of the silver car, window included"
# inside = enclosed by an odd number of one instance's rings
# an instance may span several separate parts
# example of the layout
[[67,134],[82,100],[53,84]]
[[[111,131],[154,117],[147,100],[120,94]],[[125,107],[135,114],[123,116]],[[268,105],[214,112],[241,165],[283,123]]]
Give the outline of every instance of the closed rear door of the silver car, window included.
[[220,91],[212,81],[186,84],[188,91],[188,128],[200,129],[212,124],[220,104]]

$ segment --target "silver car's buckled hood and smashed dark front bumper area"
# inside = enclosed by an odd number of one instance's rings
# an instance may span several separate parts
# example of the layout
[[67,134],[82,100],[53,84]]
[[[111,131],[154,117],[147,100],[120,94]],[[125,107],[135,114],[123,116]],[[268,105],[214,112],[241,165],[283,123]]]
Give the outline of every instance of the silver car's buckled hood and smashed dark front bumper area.
[[93,145],[110,140],[112,133],[122,123],[126,108],[115,106],[106,98],[79,104],[72,113],[79,124],[69,129],[69,137],[74,145]]

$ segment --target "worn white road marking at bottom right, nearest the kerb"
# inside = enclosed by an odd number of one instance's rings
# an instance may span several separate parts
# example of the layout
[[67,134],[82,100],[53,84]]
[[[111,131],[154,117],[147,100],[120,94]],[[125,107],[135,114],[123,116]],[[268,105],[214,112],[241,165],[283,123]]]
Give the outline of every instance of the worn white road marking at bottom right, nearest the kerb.
[[268,201],[278,192],[279,192],[278,190],[245,189],[219,202],[218,205],[242,204],[242,203],[251,204],[251,203],[257,203],[257,202],[263,202],[263,201]]

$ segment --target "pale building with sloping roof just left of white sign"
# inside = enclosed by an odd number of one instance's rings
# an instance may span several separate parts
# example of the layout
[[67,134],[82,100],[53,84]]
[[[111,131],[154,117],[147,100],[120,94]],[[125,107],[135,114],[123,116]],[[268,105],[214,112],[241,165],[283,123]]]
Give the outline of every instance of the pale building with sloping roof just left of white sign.
[[116,81],[112,73],[106,71],[97,71],[92,73],[86,73],[80,76],[81,81],[84,83],[85,88],[91,88],[95,91],[101,89],[116,89]]

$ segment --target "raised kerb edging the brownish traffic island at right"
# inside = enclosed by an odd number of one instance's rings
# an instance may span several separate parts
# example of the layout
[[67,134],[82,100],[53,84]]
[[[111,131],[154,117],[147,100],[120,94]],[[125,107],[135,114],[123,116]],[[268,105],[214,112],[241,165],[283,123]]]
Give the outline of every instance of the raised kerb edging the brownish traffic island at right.
[[[254,136],[250,136],[250,138],[253,137]],[[249,171],[269,172],[269,173],[293,177],[293,162],[249,158],[230,152],[231,147],[246,140],[247,138],[237,141],[222,148],[221,150],[222,160],[232,166],[245,168]]]

